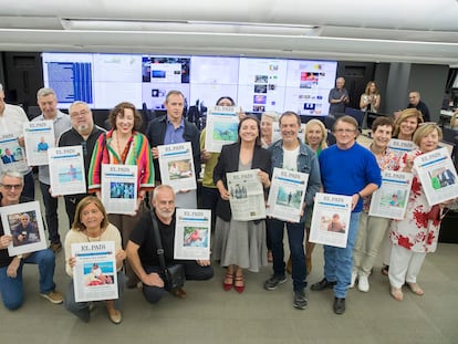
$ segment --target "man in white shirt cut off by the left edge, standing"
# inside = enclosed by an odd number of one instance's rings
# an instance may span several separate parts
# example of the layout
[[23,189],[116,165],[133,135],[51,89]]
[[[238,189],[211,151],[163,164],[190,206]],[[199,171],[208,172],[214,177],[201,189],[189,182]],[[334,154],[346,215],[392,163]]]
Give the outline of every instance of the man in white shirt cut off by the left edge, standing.
[[[22,132],[22,125],[28,122],[29,118],[27,117],[22,107],[4,103],[4,91],[3,86],[0,84],[0,137],[6,134],[13,134],[13,137],[18,138],[18,144],[23,147],[24,137]],[[13,155],[11,155],[11,157],[13,157]],[[9,163],[13,163],[13,160],[10,160]],[[3,160],[3,164],[8,163]],[[2,166],[0,164],[0,173],[1,171]],[[32,168],[30,166],[24,166],[24,168],[21,169],[20,173],[24,177],[24,188],[22,191],[22,196],[34,199],[35,183],[33,181]]]

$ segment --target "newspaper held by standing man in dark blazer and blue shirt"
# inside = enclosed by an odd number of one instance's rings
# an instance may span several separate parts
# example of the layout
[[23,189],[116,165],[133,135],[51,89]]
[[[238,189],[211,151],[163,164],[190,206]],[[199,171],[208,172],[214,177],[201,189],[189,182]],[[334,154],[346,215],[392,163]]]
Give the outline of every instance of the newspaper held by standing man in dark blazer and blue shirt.
[[192,147],[189,142],[157,146],[159,170],[163,184],[179,190],[196,190],[196,169],[194,168]]

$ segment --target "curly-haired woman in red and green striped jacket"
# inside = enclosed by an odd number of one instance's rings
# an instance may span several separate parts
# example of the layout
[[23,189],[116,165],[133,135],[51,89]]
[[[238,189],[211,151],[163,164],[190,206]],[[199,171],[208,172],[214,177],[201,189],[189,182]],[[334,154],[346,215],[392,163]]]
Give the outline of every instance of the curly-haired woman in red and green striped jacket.
[[[137,132],[142,125],[142,116],[134,104],[117,104],[108,115],[112,129],[101,135],[94,147],[89,171],[89,192],[101,197],[102,164],[137,166],[137,205],[136,215],[111,213],[110,222],[116,226],[123,238],[123,247],[127,244],[132,229],[142,212],[145,211],[144,198],[154,187],[154,167],[148,139]],[[137,283],[135,273],[126,264],[128,288]]]

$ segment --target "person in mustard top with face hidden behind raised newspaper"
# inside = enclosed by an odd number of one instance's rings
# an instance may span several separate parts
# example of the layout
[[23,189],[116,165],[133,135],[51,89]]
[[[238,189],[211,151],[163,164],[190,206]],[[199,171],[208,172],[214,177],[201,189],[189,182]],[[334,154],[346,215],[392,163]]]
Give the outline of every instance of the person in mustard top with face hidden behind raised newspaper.
[[[236,103],[230,96],[221,96],[217,103],[217,106],[236,106]],[[244,117],[244,113],[239,113],[239,119]],[[215,221],[216,221],[216,205],[218,202],[219,192],[218,188],[214,183],[214,170],[215,166],[218,163],[219,153],[211,153],[205,149],[205,139],[206,139],[207,129],[200,134],[200,156],[205,163],[204,168],[204,178],[202,178],[202,188],[200,197],[200,208],[211,210],[211,231],[215,231]]]

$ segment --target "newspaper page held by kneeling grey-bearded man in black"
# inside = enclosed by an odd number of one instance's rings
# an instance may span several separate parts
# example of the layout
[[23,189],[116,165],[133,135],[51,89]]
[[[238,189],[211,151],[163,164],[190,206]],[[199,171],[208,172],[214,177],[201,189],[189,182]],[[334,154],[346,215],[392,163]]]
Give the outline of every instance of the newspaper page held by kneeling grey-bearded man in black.
[[175,259],[210,259],[211,210],[176,210]]

